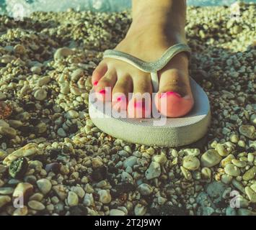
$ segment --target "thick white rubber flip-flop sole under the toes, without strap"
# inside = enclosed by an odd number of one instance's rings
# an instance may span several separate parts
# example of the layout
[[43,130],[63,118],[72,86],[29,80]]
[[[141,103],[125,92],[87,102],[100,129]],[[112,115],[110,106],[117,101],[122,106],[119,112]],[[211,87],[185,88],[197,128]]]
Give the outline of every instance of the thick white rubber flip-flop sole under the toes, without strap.
[[[168,118],[164,126],[154,126],[159,119],[116,119],[97,109],[89,97],[89,116],[93,123],[112,137],[126,142],[160,147],[179,147],[198,141],[206,135],[211,122],[206,92],[190,78],[195,100],[192,111],[182,118]],[[102,115],[105,118],[102,118]]]

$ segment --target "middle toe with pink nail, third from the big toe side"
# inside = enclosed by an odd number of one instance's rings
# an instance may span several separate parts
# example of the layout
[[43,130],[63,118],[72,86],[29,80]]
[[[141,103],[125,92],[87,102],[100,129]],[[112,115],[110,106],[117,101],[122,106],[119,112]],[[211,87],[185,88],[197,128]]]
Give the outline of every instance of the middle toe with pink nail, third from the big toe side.
[[133,91],[133,80],[130,75],[118,77],[112,90],[113,109],[120,111],[126,110],[128,105],[128,93]]

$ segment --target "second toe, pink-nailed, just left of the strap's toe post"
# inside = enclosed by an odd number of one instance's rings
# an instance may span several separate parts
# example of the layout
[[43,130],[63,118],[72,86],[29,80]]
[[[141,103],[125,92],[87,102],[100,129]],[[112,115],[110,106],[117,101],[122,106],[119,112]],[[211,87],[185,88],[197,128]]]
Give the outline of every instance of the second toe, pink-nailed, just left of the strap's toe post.
[[149,75],[141,74],[133,78],[133,96],[128,103],[131,118],[151,117],[152,83]]

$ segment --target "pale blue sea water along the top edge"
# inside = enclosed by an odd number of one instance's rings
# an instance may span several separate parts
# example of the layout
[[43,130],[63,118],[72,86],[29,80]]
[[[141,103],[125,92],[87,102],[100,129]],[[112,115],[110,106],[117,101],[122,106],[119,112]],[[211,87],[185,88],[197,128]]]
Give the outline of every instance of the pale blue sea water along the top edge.
[[[142,0],[141,0],[142,1]],[[236,0],[187,0],[193,6],[231,5]],[[244,0],[256,2],[256,0]],[[29,14],[35,11],[63,12],[73,8],[76,11],[91,10],[94,12],[119,12],[131,8],[131,0],[0,0],[0,13],[15,14],[25,11]]]

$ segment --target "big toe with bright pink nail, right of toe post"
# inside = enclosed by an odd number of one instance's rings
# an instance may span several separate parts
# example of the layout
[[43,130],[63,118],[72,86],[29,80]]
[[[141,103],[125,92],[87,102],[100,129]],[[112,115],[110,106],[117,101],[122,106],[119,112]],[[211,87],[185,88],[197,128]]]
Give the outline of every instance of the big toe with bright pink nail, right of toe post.
[[160,75],[159,93],[156,93],[155,103],[164,116],[185,116],[194,103],[188,73],[173,68],[165,70]]

